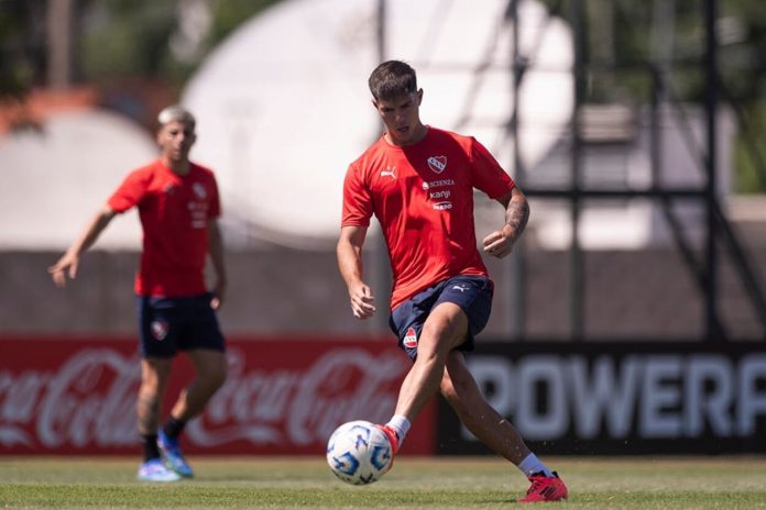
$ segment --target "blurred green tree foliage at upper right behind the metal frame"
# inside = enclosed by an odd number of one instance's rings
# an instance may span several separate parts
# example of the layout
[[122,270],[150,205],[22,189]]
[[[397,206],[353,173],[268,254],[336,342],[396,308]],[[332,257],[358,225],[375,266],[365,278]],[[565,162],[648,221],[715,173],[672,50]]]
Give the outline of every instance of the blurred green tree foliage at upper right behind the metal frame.
[[[551,15],[579,13],[587,102],[646,104],[652,65],[672,101],[704,100],[705,0],[543,0]],[[578,9],[579,11],[574,11]],[[766,9],[763,0],[719,0],[719,92],[738,114],[735,189],[766,192]],[[666,41],[663,40],[666,37]],[[667,43],[667,44],[664,44]]]

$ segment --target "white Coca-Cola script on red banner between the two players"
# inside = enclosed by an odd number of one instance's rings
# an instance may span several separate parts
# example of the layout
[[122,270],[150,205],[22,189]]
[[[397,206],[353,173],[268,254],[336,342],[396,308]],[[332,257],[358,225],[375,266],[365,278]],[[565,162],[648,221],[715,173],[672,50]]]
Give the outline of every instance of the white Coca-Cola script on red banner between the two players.
[[238,440],[324,444],[344,421],[387,420],[404,369],[396,351],[374,356],[360,348],[336,348],[304,370],[245,373],[240,353],[230,351],[227,384],[205,417],[186,431],[195,443],[208,446]]

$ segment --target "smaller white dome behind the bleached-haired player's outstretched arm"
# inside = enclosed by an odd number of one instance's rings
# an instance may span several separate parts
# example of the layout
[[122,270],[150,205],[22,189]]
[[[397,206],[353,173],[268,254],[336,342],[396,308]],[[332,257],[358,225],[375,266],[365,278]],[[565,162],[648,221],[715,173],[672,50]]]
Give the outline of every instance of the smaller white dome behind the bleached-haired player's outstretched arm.
[[[103,110],[53,114],[40,133],[0,137],[0,248],[65,250],[128,171],[157,154],[145,130]],[[123,215],[98,247],[141,246],[138,213]]]

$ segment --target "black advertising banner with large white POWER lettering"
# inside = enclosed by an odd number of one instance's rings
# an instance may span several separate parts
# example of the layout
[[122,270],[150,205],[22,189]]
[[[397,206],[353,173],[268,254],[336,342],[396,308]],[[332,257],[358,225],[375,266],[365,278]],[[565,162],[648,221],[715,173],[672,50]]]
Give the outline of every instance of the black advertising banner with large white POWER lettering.
[[[766,345],[480,343],[469,365],[538,453],[766,452]],[[440,409],[440,453],[486,453]]]

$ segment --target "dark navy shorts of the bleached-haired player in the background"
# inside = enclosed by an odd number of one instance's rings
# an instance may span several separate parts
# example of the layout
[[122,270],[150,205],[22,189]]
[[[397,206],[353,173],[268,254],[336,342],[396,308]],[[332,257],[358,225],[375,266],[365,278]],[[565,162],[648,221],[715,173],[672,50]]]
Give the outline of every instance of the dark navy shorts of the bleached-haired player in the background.
[[211,299],[210,293],[192,298],[139,296],[141,354],[173,357],[178,351],[197,348],[223,352],[223,335]]

